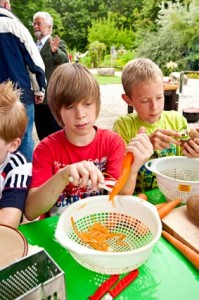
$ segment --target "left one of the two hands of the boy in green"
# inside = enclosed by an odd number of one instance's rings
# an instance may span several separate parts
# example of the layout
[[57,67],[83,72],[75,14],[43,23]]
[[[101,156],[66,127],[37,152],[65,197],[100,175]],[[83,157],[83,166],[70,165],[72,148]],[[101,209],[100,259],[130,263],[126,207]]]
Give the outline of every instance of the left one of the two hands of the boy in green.
[[170,129],[157,129],[149,138],[154,150],[170,148],[170,144],[180,145],[181,133]]

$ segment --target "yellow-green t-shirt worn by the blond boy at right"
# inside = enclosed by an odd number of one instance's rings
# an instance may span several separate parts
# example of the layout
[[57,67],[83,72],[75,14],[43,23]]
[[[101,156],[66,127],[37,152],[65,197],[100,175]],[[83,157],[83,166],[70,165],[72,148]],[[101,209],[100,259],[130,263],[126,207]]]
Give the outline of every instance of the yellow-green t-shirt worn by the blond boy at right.
[[[182,131],[187,129],[187,120],[177,111],[163,111],[161,118],[158,122],[154,124],[149,124],[143,122],[137,115],[136,112],[132,114],[127,114],[119,117],[113,126],[113,131],[117,132],[125,141],[126,144],[135,137],[138,133],[140,127],[144,126],[146,128],[146,133],[148,135],[152,134],[157,129],[171,129],[176,131]],[[164,150],[155,150],[151,159],[172,156],[172,155],[181,155],[180,146],[171,144],[170,148]],[[135,192],[144,192],[151,189],[157,188],[156,176],[151,173],[149,170],[142,166],[137,177],[136,189]]]

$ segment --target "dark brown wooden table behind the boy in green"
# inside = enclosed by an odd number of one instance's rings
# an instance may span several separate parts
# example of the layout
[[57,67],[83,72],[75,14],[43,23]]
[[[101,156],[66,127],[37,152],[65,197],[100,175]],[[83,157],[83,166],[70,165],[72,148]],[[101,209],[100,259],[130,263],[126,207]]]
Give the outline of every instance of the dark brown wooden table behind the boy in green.
[[[164,110],[178,110],[179,95],[177,94],[178,84],[164,84]],[[128,113],[133,112],[133,107],[128,106]]]

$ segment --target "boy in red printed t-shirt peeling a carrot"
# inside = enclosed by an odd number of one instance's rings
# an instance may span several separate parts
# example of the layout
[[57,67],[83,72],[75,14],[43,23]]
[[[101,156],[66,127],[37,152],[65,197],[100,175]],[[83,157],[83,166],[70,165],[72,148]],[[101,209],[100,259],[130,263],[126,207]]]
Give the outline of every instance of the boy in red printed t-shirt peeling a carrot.
[[49,81],[48,101],[63,129],[35,149],[26,217],[60,214],[79,199],[103,194],[98,188],[104,183],[103,173],[117,180],[126,151],[133,153],[134,162],[121,194],[132,194],[139,168],[153,153],[152,145],[140,133],[126,148],[117,133],[94,125],[100,111],[100,89],[94,76],[79,63],[57,67]]

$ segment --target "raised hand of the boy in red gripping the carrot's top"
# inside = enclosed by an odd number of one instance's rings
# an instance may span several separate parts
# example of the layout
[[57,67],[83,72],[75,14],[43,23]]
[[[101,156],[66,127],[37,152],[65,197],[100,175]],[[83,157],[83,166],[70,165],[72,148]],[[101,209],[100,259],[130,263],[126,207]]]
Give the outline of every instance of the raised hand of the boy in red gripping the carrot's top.
[[137,173],[141,166],[147,162],[153,154],[153,145],[144,130],[139,132],[130,143],[127,145],[126,151],[133,153],[134,162],[132,165],[132,171]]

